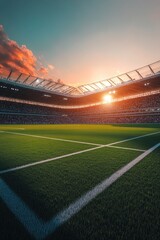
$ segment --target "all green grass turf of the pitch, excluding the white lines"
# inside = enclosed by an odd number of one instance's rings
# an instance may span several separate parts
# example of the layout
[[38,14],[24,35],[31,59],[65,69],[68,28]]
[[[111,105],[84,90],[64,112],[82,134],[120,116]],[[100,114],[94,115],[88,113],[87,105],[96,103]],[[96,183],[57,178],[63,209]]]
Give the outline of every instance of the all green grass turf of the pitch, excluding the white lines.
[[[2,125],[1,130],[107,144],[160,131],[160,125]],[[148,149],[159,136],[117,146]],[[7,133],[0,138],[1,169],[93,147]],[[47,220],[140,154],[103,148],[1,177]],[[159,239],[159,155],[157,150],[144,159],[48,239]],[[0,209],[0,239],[32,239],[1,200]]]

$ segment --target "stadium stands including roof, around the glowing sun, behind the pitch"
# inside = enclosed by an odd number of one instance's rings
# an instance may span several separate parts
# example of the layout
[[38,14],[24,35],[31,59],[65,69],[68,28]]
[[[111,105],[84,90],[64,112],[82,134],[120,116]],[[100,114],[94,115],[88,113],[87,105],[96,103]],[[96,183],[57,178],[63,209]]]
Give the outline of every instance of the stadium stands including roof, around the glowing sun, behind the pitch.
[[[78,88],[31,76],[20,81],[23,74],[8,72],[4,77],[1,71],[0,78],[1,124],[160,122],[160,61],[105,80],[106,85]],[[112,103],[104,104],[106,94]]]

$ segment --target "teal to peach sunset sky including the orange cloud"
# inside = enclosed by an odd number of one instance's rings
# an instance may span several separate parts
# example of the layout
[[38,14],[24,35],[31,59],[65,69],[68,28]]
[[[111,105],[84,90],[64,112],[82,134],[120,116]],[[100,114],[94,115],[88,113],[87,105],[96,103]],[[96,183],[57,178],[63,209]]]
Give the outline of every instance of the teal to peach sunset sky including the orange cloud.
[[159,0],[0,0],[0,66],[81,85],[160,59]]

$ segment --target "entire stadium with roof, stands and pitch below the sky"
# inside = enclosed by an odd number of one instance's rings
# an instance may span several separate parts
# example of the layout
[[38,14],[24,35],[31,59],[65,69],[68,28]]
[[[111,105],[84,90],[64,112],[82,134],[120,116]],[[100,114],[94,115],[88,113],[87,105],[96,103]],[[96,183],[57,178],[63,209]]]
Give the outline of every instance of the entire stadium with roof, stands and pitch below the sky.
[[79,87],[1,68],[0,106],[1,239],[159,239],[160,61]]

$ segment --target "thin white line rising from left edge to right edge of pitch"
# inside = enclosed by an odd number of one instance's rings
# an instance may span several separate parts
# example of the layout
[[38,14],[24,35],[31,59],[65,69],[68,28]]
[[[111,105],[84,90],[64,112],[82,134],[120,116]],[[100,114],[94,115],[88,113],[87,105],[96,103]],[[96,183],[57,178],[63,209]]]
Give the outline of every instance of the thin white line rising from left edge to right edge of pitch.
[[67,157],[74,156],[74,155],[79,155],[81,153],[90,152],[90,151],[93,151],[93,150],[96,150],[96,149],[99,149],[99,148],[110,147],[112,145],[123,143],[123,142],[128,142],[128,141],[131,141],[131,140],[134,140],[134,139],[144,138],[144,137],[155,135],[155,134],[158,134],[158,133],[160,133],[160,132],[149,133],[149,134],[145,134],[145,135],[141,135],[141,136],[133,137],[133,138],[127,138],[127,139],[124,139],[124,140],[121,140],[121,141],[118,141],[118,142],[113,142],[113,143],[109,143],[109,144],[106,144],[106,145],[99,145],[98,147],[89,148],[89,149],[81,150],[81,151],[78,151],[78,152],[73,152],[73,153],[62,155],[62,156],[41,160],[41,161],[38,161],[38,162],[28,163],[28,164],[24,164],[24,165],[21,165],[21,166],[4,169],[4,170],[0,171],[0,175],[5,174],[5,173],[9,173],[9,172],[14,172],[14,171],[17,171],[17,170],[20,170],[20,169],[40,165],[40,164],[43,164],[43,163],[55,161],[55,160],[58,160],[58,159],[67,158]]

